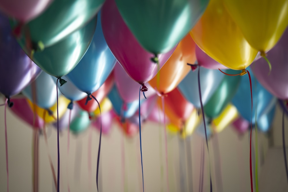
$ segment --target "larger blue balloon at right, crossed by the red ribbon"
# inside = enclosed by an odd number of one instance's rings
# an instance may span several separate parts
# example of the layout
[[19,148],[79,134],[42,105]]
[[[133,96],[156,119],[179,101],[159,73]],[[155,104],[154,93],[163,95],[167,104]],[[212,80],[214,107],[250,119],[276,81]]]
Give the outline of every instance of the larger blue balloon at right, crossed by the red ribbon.
[[[247,70],[250,71],[250,68],[248,67]],[[274,107],[276,98],[257,81],[252,73],[250,74],[253,96],[252,124],[255,124],[256,109],[257,119],[259,119],[263,114],[266,114]],[[232,99],[232,103],[238,109],[241,116],[251,122],[251,91],[248,74],[242,76],[239,88]]]

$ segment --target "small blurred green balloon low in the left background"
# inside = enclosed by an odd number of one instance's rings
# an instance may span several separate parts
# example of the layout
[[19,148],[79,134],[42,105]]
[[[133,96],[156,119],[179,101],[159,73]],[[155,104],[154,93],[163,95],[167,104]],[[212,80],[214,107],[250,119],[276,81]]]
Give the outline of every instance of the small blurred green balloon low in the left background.
[[70,123],[70,130],[75,133],[85,131],[90,125],[89,114],[86,111],[81,111],[75,119]]

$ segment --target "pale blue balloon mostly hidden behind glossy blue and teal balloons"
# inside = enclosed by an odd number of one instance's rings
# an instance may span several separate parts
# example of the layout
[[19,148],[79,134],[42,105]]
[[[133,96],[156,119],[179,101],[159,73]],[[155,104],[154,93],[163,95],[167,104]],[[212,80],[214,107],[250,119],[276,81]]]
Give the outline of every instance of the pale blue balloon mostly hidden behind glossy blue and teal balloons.
[[[78,101],[87,96],[87,94],[81,90],[79,90],[69,79],[69,77],[62,77],[67,81],[64,85],[60,86],[60,82],[58,81],[58,88],[60,92],[71,101]],[[55,83],[57,81],[56,77],[53,77]]]

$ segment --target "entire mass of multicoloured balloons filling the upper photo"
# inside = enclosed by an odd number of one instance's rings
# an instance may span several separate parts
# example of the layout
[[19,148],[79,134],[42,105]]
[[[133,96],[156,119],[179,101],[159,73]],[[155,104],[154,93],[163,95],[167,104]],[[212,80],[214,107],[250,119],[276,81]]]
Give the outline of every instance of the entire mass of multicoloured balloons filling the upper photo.
[[[185,137],[203,130],[201,110],[210,134],[267,131],[276,99],[288,99],[287,0],[1,0],[0,10],[0,92],[34,128],[55,122],[59,97],[59,128],[71,119],[74,133],[100,127],[98,101],[104,133],[115,119],[133,135],[141,115]],[[252,111],[235,70],[253,72]]]

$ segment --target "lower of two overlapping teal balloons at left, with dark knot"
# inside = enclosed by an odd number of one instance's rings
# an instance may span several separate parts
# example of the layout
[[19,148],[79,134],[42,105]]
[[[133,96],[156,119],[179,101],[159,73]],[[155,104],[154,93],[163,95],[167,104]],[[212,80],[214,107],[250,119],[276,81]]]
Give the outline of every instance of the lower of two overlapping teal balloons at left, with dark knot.
[[[35,52],[33,61],[54,77],[67,75],[86,53],[96,29],[97,17],[55,45]],[[28,50],[24,50],[29,55]]]

